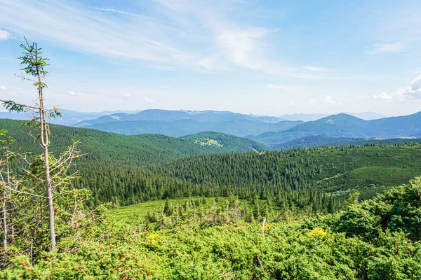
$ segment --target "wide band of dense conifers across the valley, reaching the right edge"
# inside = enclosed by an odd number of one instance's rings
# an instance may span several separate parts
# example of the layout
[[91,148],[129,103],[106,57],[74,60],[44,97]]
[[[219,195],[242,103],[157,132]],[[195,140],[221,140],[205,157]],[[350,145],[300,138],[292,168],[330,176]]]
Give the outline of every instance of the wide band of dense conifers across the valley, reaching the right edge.
[[166,197],[238,195],[250,200],[306,192],[347,196],[360,190],[367,199],[421,174],[419,146],[340,146],[265,153],[196,155],[153,167],[130,162],[79,162],[79,188],[93,202],[128,205]]

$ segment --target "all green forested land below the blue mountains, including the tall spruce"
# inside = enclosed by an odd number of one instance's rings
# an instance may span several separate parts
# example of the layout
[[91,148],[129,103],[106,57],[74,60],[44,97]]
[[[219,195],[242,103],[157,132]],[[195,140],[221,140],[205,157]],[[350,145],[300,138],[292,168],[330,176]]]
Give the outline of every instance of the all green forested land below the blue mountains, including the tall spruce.
[[21,47],[38,98],[2,101],[34,117],[0,120],[0,279],[421,279],[417,141],[49,125],[48,60]]

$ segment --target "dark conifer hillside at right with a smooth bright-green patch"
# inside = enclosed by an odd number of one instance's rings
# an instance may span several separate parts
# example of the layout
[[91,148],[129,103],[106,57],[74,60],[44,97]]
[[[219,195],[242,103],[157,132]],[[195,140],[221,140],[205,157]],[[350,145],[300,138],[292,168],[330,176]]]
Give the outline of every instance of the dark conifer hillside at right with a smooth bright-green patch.
[[156,174],[229,186],[241,197],[284,190],[360,190],[363,198],[421,174],[421,145],[295,148],[258,154],[197,155],[154,167]]

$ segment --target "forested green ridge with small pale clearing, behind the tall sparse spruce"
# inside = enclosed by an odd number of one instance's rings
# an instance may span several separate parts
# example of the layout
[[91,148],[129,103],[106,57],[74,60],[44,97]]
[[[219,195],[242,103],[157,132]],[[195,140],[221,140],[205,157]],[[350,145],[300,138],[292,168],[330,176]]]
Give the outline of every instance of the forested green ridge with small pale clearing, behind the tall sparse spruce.
[[[0,119],[0,127],[7,130],[8,134],[16,139],[16,146],[21,147],[23,151],[36,152],[40,149],[39,145],[35,144],[34,138],[29,135],[30,130],[21,127],[21,124],[21,120]],[[63,148],[72,144],[72,139],[74,139],[80,141],[79,148],[82,153],[87,154],[87,160],[119,162],[133,166],[167,162],[187,155],[201,153],[267,150],[266,146],[255,141],[218,133],[213,133],[209,137],[220,139],[223,144],[219,146],[194,143],[194,136],[186,139],[158,134],[125,136],[60,125],[51,125],[51,134],[55,139],[51,149],[55,152],[62,151]],[[206,137],[206,134],[203,134],[199,139],[203,137]]]

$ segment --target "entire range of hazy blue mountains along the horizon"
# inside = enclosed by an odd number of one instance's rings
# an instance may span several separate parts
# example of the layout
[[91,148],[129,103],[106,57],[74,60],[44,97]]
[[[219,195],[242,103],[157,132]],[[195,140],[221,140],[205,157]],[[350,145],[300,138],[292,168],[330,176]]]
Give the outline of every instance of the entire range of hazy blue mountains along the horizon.
[[[353,114],[357,115],[357,114]],[[390,118],[377,113],[359,113],[367,120],[339,113],[322,115],[255,116],[230,111],[168,111],[150,109],[145,111],[114,111],[83,113],[62,111],[62,118],[51,123],[74,127],[86,127],[118,134],[163,134],[168,137],[185,137],[201,132],[220,132],[235,137],[246,137],[280,148],[287,142],[306,137],[333,137],[343,139],[310,139],[303,143],[338,143],[345,139],[399,138],[421,136],[421,112],[410,116]],[[0,113],[0,118],[27,118],[25,114]],[[370,119],[375,118],[375,119]],[[291,120],[295,119],[295,120]],[[302,119],[302,120],[298,120]],[[352,140],[353,141],[353,140]],[[291,142],[286,146],[295,145]],[[307,144],[306,144],[307,145]]]

